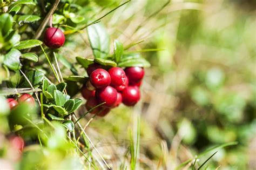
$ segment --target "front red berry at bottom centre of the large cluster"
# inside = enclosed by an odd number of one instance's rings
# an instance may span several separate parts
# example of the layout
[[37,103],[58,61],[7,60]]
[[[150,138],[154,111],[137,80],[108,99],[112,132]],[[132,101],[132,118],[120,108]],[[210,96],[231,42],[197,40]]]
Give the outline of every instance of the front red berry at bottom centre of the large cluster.
[[111,107],[117,101],[117,90],[107,86],[103,89],[96,89],[95,96],[99,103],[106,102],[103,106]]

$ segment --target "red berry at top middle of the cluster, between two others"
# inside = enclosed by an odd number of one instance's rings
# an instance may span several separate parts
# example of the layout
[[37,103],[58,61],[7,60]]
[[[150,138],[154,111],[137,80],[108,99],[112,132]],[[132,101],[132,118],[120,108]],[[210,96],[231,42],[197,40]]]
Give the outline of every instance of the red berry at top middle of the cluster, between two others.
[[125,83],[125,72],[120,67],[112,67],[109,69],[109,74],[111,77],[111,86],[120,86]]

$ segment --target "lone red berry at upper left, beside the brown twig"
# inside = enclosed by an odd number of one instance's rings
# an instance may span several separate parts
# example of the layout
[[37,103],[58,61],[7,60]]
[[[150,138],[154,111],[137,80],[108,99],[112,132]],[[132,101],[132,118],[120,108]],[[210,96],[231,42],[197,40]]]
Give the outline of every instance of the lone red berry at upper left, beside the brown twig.
[[58,28],[48,28],[44,33],[44,44],[51,49],[58,49],[65,43],[65,35]]

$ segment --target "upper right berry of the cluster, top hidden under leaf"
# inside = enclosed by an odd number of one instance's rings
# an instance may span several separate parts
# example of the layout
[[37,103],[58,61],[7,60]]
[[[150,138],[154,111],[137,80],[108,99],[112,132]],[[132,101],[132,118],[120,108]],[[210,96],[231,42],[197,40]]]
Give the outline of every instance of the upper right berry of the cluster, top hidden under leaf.
[[137,83],[142,80],[144,76],[144,70],[142,67],[127,67],[124,71],[130,83]]

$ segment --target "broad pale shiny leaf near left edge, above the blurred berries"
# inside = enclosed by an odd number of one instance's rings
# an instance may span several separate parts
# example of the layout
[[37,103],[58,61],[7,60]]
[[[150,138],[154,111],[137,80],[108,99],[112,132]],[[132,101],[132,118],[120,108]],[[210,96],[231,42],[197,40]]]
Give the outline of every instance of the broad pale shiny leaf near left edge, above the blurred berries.
[[21,69],[19,57],[21,57],[21,52],[17,49],[11,49],[6,55],[4,55],[3,63],[11,70],[19,70]]

